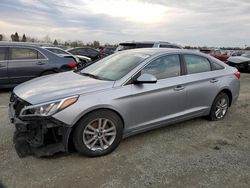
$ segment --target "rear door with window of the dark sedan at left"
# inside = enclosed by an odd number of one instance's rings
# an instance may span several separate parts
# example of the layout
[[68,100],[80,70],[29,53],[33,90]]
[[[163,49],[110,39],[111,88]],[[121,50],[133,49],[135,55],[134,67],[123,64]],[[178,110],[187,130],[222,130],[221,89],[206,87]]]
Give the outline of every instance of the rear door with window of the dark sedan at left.
[[46,69],[47,64],[47,58],[35,48],[10,47],[9,82],[19,84],[37,77]]

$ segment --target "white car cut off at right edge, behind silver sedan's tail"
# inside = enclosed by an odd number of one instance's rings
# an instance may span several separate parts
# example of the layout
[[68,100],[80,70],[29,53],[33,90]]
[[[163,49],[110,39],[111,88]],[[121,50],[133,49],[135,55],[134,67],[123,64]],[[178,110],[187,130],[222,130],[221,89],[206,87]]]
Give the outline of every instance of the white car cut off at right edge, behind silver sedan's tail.
[[250,72],[250,52],[246,52],[241,56],[229,57],[226,63],[236,67],[239,71]]

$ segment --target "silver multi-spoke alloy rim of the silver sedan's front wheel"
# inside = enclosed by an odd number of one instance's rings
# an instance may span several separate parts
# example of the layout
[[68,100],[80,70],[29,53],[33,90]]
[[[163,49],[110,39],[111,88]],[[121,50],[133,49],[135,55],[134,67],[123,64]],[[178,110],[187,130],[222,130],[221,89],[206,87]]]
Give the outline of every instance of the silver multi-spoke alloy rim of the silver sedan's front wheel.
[[95,119],[83,131],[83,143],[92,151],[105,150],[115,140],[116,127],[106,118]]

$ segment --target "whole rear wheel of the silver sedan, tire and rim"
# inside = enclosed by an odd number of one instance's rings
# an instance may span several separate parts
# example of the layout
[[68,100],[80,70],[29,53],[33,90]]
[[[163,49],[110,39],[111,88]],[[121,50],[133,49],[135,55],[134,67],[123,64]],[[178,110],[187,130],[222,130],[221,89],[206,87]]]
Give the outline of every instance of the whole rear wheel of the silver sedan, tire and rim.
[[214,99],[209,118],[212,121],[224,119],[229,108],[229,97],[226,93],[220,93]]

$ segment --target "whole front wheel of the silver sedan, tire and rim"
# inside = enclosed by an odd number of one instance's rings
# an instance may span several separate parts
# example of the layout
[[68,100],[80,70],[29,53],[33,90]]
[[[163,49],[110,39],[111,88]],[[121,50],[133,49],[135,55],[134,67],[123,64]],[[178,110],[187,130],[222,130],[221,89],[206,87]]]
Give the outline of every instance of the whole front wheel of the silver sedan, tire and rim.
[[111,153],[122,140],[123,122],[114,112],[97,110],[83,117],[73,132],[76,150],[88,157]]

